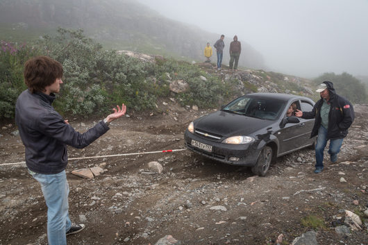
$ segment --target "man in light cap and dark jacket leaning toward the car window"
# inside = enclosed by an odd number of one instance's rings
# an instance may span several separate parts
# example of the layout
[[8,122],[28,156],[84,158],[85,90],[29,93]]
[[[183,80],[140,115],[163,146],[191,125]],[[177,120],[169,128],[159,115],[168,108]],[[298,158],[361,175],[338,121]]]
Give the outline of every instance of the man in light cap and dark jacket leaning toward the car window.
[[328,154],[331,162],[337,161],[337,153],[340,152],[342,140],[348,134],[348,128],[354,121],[353,105],[342,96],[336,94],[333,83],[324,81],[317,88],[321,99],[315,103],[311,112],[301,112],[296,110],[296,117],[304,119],[315,118],[310,137],[317,135],[315,147],[316,164],[315,173],[318,174],[324,169],[324,148],[330,140]]

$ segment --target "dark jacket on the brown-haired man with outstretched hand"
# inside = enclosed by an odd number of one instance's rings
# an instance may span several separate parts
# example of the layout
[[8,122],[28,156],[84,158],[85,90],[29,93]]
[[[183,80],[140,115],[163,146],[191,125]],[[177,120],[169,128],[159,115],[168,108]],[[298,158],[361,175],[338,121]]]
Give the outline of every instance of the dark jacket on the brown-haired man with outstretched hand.
[[83,148],[106,133],[103,121],[81,134],[65,123],[53,109],[55,96],[22,92],[15,105],[15,122],[26,147],[28,169],[40,174],[58,174],[67,167],[67,145]]

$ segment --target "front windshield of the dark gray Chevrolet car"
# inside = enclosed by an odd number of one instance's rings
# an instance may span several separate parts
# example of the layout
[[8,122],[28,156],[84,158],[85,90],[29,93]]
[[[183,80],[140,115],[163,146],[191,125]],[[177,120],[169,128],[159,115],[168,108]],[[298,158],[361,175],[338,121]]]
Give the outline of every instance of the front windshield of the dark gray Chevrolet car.
[[240,97],[226,105],[222,110],[247,117],[275,120],[284,107],[285,103],[276,99]]

